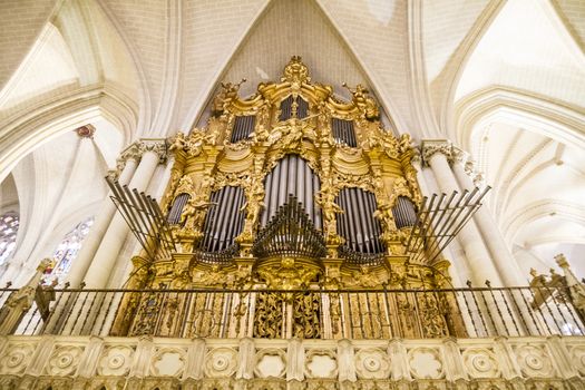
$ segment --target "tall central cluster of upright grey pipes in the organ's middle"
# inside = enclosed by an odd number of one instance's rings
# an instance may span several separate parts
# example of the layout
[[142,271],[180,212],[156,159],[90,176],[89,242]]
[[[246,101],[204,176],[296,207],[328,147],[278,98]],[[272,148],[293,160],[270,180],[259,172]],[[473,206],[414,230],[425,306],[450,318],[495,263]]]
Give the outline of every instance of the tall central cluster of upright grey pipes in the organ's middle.
[[286,203],[289,195],[301,202],[316,228],[322,227],[321,209],[316,209],[313,196],[321,189],[319,176],[309,164],[298,155],[287,155],[282,158],[264,182],[264,209],[261,225],[265,226],[280,206]]

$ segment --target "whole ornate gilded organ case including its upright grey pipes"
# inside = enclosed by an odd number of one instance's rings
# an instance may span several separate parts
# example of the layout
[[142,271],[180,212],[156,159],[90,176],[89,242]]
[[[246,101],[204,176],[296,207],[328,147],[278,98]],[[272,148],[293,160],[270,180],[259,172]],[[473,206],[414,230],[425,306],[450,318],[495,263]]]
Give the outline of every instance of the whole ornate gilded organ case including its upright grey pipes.
[[[409,262],[406,241],[422,201],[415,149],[408,135],[382,127],[365,88],[343,85],[352,96],[343,101],[312,82],[299,57],[280,82],[248,98],[240,86],[222,85],[205,128],[169,140],[175,163],[160,207],[176,250],[135,256],[129,282],[169,293],[127,294],[114,334],[340,338],[344,316],[361,308],[380,315],[381,289],[448,285],[446,260]],[[344,289],[378,292],[340,299]],[[428,329],[413,335],[447,334],[445,302],[422,301],[397,294],[383,310],[401,313],[391,321],[408,329],[417,308]],[[392,324],[359,321],[361,332],[393,335]]]

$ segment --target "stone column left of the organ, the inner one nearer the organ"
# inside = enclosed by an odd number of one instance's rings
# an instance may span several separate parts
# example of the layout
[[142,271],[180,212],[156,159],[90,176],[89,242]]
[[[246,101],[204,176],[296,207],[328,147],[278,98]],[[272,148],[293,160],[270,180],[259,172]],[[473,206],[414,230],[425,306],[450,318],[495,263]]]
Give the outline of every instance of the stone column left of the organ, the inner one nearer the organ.
[[[128,187],[142,192],[146,189],[158,163],[164,158],[165,145],[158,142],[139,142],[135,145],[142,152],[142,158]],[[104,289],[107,286],[128,232],[129,227],[121,215],[116,214],[86,273],[88,287]]]

